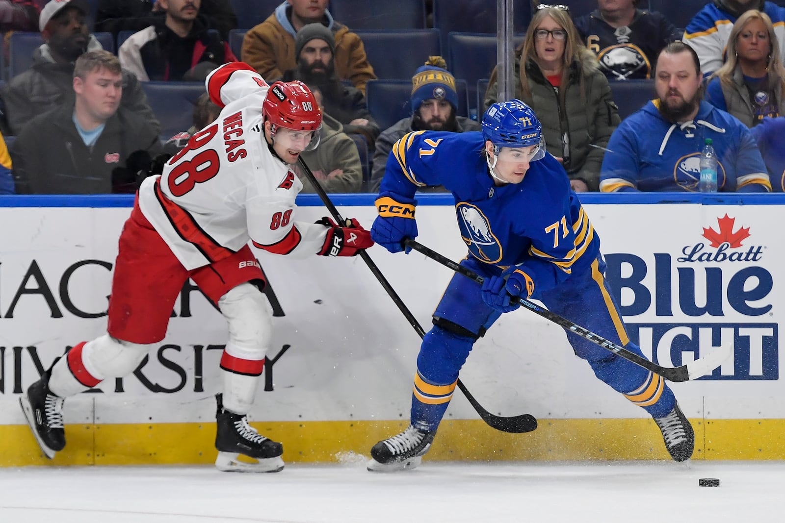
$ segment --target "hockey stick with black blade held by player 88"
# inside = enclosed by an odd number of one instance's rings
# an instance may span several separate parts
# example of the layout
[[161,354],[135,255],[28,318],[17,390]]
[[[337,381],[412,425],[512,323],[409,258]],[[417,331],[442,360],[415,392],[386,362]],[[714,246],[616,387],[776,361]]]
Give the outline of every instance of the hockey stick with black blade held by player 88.
[[[333,216],[333,219],[337,223],[345,223],[341,213],[338,212],[338,209],[335,207],[333,202],[330,200],[330,197],[327,196],[327,192],[324,191],[323,187],[319,183],[319,180],[316,180],[316,176],[313,176],[311,169],[309,169],[308,165],[305,164],[302,158],[299,158],[300,165],[305,173],[305,176],[308,177],[310,182],[313,185],[313,188],[316,190],[316,193],[319,194],[319,198],[321,198],[322,202],[324,203],[327,210],[330,211],[330,214]],[[406,304],[403,303],[403,300],[400,299],[400,296],[395,292],[395,289],[392,289],[392,285],[389,284],[387,278],[385,278],[382,271],[379,271],[379,267],[377,267],[374,260],[371,260],[371,256],[368,255],[367,252],[364,250],[360,251],[360,257],[366,263],[371,272],[374,274],[376,279],[379,283],[382,284],[387,294],[389,294],[392,301],[396,304],[398,309],[403,313],[403,316],[406,317],[407,321],[409,321],[409,325],[414,327],[414,330],[418,333],[420,338],[425,336],[425,331],[422,329],[422,326],[417,321],[417,318],[414,318],[414,314],[411,314]],[[531,430],[535,430],[537,428],[537,419],[531,414],[520,414],[520,416],[495,416],[488,412],[476,399],[474,396],[469,392],[466,386],[462,383],[461,380],[458,380],[458,388],[461,389],[461,392],[466,399],[469,400],[469,403],[472,405],[474,410],[476,410],[477,414],[480,415],[480,418],[487,423],[488,426],[495,428],[496,430],[501,430],[502,432],[511,432],[513,434],[521,434],[524,432],[531,432]]]

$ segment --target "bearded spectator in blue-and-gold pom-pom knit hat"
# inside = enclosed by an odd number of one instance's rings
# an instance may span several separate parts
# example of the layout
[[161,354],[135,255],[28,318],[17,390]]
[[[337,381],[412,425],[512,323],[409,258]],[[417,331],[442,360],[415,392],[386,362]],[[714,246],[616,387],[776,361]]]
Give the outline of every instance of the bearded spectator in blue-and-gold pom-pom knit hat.
[[[465,133],[481,130],[480,122],[457,116],[457,111],[455,77],[447,71],[447,63],[441,56],[429,56],[425,65],[414,71],[411,78],[411,116],[385,129],[376,139],[376,151],[371,162],[371,192],[379,191],[392,144],[404,134],[412,131]],[[442,190],[441,186],[433,188],[433,191]]]

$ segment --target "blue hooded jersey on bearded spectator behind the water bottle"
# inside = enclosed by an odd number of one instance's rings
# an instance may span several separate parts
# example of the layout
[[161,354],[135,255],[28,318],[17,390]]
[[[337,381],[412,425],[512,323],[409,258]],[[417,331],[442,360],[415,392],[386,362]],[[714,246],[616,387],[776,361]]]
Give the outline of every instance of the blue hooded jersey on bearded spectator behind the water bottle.
[[703,101],[693,121],[675,124],[659,114],[655,102],[624,119],[612,134],[600,191],[699,191],[706,138],[717,151],[719,191],[771,191],[761,153],[743,123]]

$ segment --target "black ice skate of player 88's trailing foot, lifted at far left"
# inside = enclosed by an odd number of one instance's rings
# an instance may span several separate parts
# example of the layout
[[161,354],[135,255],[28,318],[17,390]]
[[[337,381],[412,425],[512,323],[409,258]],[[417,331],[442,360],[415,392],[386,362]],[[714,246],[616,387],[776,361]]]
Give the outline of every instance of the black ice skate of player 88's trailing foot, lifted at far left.
[[65,398],[55,396],[49,390],[49,376],[51,369],[44,372],[41,379],[27,388],[27,393],[19,398],[22,412],[27,418],[27,424],[33,431],[35,441],[44,452],[52,459],[55,453],[65,447],[65,430],[63,430],[63,402]]

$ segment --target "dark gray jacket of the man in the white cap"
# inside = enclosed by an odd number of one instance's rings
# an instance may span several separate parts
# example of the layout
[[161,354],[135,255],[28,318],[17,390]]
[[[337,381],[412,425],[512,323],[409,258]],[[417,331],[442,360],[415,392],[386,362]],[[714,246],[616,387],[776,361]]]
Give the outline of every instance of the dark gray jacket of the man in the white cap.
[[[90,35],[88,51],[103,49]],[[74,64],[55,62],[49,45],[35,49],[33,65],[18,74],[5,85],[2,91],[5,112],[11,133],[17,135],[27,122],[46,111],[71,104],[74,94]],[[152,124],[155,133],[161,132],[161,124],[148,104],[141,83],[133,74],[122,71],[122,100],[120,107],[138,114]]]

